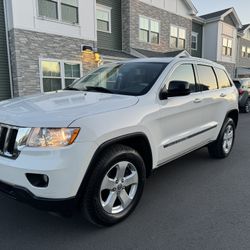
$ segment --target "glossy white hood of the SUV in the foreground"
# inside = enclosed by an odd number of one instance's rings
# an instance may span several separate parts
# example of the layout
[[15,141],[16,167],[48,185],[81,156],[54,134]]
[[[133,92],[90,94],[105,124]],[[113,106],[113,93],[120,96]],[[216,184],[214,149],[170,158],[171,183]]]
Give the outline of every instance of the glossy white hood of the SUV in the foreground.
[[58,91],[0,102],[0,123],[21,127],[67,127],[73,121],[135,105],[134,96]]

